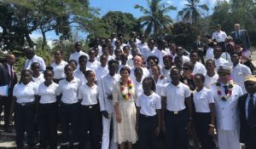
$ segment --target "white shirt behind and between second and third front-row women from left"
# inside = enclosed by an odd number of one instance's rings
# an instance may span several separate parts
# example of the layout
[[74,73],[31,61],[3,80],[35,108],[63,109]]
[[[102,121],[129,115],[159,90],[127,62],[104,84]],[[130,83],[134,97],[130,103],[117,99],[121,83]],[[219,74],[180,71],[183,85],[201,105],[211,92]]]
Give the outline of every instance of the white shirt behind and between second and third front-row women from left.
[[60,64],[56,64],[53,62],[50,66],[52,66],[53,71],[55,72],[54,78],[61,79],[66,77],[64,73],[64,67],[67,65],[67,61],[61,60]]

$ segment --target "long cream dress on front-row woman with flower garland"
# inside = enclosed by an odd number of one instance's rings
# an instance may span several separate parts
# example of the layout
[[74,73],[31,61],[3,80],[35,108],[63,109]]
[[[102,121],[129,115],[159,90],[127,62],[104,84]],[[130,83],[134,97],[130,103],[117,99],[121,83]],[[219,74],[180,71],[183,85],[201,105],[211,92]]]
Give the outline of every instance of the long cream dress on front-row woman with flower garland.
[[[120,91],[120,82],[113,85],[113,105],[119,103],[119,111],[122,117],[121,123],[113,121],[113,141],[116,143],[123,143],[129,141],[136,143],[137,132],[136,132],[136,106],[134,103],[135,90],[132,83],[133,89],[129,100],[125,100]],[[128,87],[125,88],[125,93],[128,93]]]

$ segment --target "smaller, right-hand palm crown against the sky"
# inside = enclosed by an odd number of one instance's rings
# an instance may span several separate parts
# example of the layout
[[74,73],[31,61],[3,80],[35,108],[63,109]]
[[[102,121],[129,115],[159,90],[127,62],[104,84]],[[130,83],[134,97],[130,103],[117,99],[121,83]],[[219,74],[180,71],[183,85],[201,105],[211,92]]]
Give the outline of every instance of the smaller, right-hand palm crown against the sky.
[[209,11],[207,4],[199,4],[200,0],[187,0],[185,8],[177,12],[177,15],[191,24],[199,20],[205,12]]

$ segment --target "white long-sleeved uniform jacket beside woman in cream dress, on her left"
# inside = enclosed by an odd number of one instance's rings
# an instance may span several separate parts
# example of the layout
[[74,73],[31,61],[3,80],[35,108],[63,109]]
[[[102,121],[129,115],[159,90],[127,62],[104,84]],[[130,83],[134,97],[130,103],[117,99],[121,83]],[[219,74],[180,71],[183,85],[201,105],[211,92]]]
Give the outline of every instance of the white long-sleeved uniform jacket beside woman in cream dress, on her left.
[[112,100],[108,99],[108,95],[112,95],[113,85],[120,79],[119,74],[115,74],[113,77],[109,74],[102,76],[99,83],[99,101],[101,111],[113,112]]

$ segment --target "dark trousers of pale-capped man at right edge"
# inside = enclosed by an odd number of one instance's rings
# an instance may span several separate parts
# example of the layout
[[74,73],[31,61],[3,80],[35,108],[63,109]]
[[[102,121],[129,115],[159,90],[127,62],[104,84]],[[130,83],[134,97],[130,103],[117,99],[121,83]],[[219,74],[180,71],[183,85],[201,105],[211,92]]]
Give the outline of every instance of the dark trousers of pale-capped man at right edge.
[[255,149],[256,147],[256,128],[249,129],[246,140],[245,140],[246,149]]

